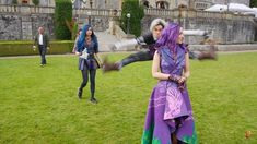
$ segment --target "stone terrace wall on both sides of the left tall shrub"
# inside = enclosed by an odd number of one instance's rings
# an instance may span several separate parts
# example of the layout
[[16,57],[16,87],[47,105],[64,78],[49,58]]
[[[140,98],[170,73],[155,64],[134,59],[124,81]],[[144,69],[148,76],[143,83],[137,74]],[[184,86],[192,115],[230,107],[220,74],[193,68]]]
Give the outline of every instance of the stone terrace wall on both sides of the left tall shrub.
[[[54,9],[52,7],[33,5],[1,5],[0,4],[0,39],[25,40],[33,39],[39,26],[54,37]],[[95,32],[109,28],[109,21],[121,15],[120,10],[79,9],[72,15],[78,20],[80,27],[91,21]]]

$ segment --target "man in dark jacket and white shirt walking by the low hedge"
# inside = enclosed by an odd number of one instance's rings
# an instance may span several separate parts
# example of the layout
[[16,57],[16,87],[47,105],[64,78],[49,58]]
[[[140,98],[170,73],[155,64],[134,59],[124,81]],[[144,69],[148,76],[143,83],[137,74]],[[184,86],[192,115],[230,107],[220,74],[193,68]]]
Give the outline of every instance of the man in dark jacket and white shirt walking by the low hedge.
[[44,27],[38,27],[38,33],[35,36],[33,50],[36,50],[36,45],[39,50],[39,55],[42,57],[40,67],[46,64],[46,51],[49,49],[49,39],[48,36],[44,33]]

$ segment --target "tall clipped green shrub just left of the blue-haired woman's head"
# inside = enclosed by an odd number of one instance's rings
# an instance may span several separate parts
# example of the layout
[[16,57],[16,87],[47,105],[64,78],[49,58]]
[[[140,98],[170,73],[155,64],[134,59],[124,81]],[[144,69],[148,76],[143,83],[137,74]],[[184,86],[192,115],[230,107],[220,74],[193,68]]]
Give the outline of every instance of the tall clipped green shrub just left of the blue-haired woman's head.
[[72,3],[70,0],[56,0],[55,9],[55,34],[56,39],[71,39],[71,33],[66,25],[66,21],[71,21]]

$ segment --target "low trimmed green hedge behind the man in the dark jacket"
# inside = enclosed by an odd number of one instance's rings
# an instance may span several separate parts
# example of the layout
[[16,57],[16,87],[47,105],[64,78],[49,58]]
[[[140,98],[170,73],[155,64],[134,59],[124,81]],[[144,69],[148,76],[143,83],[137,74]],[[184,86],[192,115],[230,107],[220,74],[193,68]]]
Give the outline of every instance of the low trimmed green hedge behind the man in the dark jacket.
[[[50,41],[50,49],[47,53],[70,53],[73,49],[74,41]],[[33,41],[2,41],[0,43],[0,57],[2,56],[27,56],[38,55],[38,48],[33,51]]]

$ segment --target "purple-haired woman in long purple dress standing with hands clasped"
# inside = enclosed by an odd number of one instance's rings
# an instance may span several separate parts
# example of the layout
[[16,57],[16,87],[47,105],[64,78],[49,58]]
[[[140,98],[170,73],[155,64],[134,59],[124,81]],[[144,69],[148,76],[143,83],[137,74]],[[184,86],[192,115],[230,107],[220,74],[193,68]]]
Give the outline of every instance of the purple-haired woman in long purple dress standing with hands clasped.
[[156,41],[152,75],[160,81],[149,101],[142,144],[197,143],[186,86],[190,75],[189,53],[183,40],[183,28],[170,23]]

